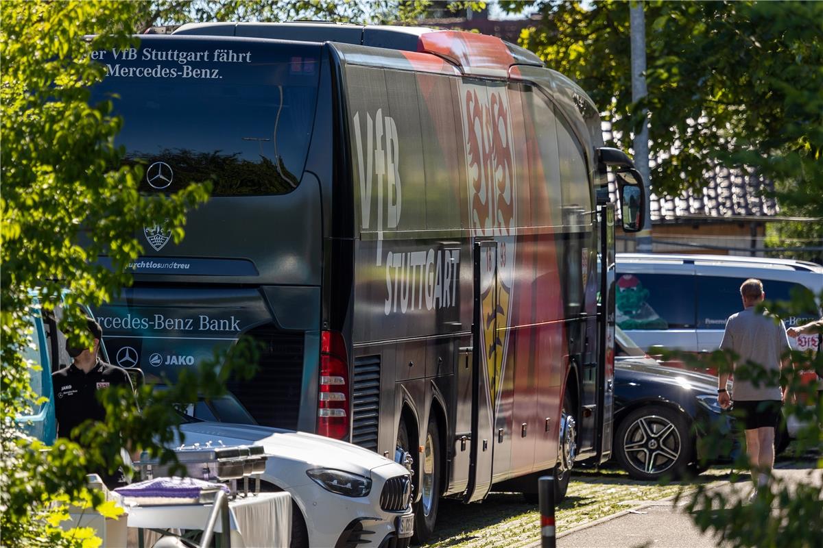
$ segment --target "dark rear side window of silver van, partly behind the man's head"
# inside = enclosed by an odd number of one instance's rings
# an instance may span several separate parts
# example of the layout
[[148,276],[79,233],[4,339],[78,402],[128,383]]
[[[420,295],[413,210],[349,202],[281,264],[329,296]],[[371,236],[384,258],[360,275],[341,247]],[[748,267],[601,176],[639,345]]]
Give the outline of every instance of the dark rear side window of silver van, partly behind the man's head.
[[[746,278],[698,276],[697,328],[725,329],[728,317],[743,309],[743,303],[740,299],[740,286],[745,281]],[[761,281],[763,282],[766,299],[769,301],[790,301],[793,290],[811,293],[808,288],[800,283],[770,279]],[[810,319],[816,317],[816,311],[813,309],[806,312]]]

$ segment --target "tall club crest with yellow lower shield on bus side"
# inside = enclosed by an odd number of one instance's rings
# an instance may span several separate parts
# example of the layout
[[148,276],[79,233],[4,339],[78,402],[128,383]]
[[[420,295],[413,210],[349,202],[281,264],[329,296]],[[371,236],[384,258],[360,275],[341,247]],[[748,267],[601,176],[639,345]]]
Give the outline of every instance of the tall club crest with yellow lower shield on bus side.
[[[496,261],[481,260],[483,279],[496,280],[481,288],[483,360],[495,406],[509,347],[512,286],[514,283],[514,227],[516,219],[514,140],[506,88],[460,83],[463,145],[466,150],[468,210],[472,237],[493,237]],[[496,275],[495,275],[496,274]]]

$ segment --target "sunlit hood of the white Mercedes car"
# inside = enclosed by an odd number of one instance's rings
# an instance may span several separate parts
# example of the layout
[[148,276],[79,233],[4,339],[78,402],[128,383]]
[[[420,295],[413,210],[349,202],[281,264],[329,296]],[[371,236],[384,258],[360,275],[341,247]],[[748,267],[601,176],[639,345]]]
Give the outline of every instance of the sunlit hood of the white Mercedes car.
[[361,476],[393,463],[388,458],[344,441],[320,435],[226,422],[192,422],[180,426],[186,445],[263,445],[274,463],[305,463],[305,469],[328,467]]

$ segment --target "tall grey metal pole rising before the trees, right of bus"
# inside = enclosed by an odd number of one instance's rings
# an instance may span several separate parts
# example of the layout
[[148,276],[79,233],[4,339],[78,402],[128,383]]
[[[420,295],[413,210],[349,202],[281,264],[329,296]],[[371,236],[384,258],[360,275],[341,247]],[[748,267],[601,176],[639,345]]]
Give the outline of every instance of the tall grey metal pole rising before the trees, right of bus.
[[[630,29],[631,29],[631,100],[637,103],[649,94],[646,89],[646,17],[643,12],[644,2],[630,2]],[[651,203],[651,180],[649,178],[649,115],[643,111],[643,125],[635,135],[635,167],[643,176],[643,185],[646,190],[646,215],[643,230],[637,233],[637,251],[652,252],[652,217],[649,205]]]

